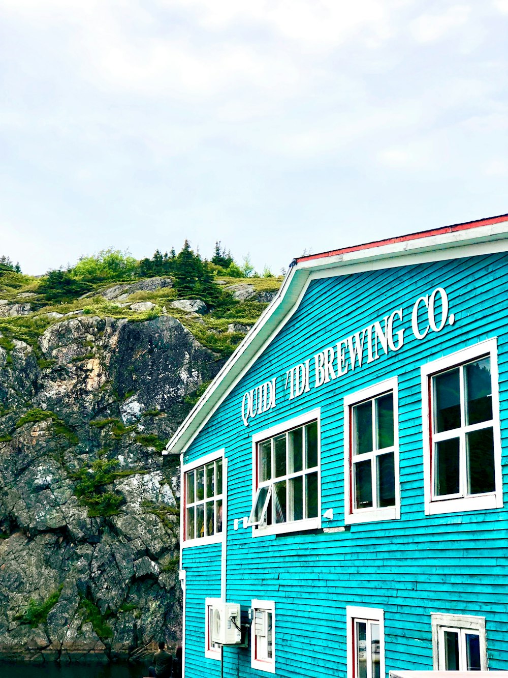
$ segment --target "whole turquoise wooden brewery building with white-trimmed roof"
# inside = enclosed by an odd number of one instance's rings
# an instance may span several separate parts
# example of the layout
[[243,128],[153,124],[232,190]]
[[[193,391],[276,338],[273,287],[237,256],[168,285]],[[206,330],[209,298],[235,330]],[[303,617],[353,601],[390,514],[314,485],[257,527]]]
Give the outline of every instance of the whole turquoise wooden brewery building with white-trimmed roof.
[[293,264],[167,447],[184,676],[508,670],[508,216]]

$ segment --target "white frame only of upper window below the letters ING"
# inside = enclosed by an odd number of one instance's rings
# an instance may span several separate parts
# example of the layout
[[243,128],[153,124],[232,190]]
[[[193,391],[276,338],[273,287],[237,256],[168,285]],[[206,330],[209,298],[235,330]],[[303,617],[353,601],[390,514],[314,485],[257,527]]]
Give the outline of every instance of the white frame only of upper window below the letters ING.
[[[354,479],[352,476],[352,411],[355,405],[360,405],[363,401],[372,400],[385,393],[394,394],[394,472],[395,472],[395,506],[385,506],[381,509],[355,509],[354,508]],[[362,391],[356,391],[344,398],[344,522],[346,525],[355,523],[370,523],[380,520],[400,519],[400,476],[399,476],[399,431],[398,431],[398,379],[392,377],[385,381],[363,388]],[[368,453],[375,459],[377,451]],[[367,458],[367,454],[365,454]],[[375,466],[375,464],[373,464]],[[376,472],[377,474],[377,472]],[[377,475],[376,475],[377,477]],[[373,495],[377,492],[377,487],[373,483]]]

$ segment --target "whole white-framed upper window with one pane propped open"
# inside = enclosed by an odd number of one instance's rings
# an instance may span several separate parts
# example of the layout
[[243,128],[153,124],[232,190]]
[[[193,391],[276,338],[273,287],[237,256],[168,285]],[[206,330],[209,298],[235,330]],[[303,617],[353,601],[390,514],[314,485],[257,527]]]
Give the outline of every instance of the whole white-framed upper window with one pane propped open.
[[320,410],[253,436],[254,536],[320,527]]

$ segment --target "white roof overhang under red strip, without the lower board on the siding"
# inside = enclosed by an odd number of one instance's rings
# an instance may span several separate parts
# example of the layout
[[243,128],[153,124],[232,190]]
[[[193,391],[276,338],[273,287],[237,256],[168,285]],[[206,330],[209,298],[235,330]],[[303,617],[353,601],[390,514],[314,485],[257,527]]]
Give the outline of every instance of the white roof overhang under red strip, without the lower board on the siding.
[[[438,230],[438,229],[436,229]],[[442,250],[446,247],[465,247],[482,242],[508,239],[508,216],[505,221],[496,224],[476,226],[464,231],[452,231],[439,235],[425,235],[421,238],[401,240],[379,246],[370,246],[354,252],[331,254],[320,258],[312,258],[298,262],[290,269],[276,296],[270,305],[263,311],[255,325],[242,340],[236,351],[224,363],[215,376],[213,382],[200,397],[191,412],[167,443],[163,454],[179,454],[194,439],[198,428],[213,414],[213,410],[228,395],[234,387],[238,376],[245,370],[249,361],[256,355],[263,342],[270,333],[278,327],[299,298],[299,294],[311,273],[324,271],[329,268],[340,268],[350,264],[373,262],[375,260],[391,259],[399,256],[410,256],[424,252]]]

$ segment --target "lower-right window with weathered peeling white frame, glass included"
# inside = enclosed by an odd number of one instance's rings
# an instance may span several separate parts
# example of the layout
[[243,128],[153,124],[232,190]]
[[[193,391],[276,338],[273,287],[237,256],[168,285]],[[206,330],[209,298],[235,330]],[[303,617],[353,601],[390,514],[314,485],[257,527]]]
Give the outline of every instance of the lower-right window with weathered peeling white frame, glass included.
[[434,671],[487,671],[485,617],[433,612]]

